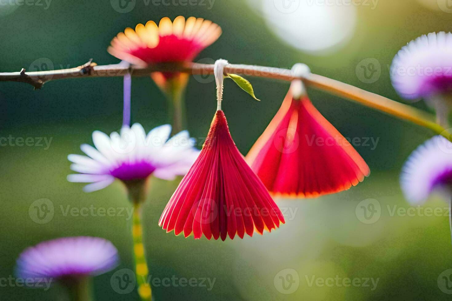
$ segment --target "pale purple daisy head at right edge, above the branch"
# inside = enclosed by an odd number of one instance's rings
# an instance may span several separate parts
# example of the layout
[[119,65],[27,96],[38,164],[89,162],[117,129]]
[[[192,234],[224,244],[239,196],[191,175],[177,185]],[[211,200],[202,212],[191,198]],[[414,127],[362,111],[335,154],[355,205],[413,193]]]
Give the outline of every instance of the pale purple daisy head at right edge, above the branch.
[[451,93],[451,53],[450,32],[431,32],[403,46],[391,66],[391,81],[397,93],[410,100]]

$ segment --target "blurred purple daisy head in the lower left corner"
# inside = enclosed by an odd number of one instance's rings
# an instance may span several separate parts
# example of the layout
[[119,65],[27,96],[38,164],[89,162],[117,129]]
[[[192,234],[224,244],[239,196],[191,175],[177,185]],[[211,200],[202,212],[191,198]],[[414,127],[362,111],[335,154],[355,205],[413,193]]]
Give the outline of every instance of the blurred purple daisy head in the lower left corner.
[[95,276],[118,265],[118,250],[99,237],[62,237],[29,247],[17,259],[21,278],[76,278]]

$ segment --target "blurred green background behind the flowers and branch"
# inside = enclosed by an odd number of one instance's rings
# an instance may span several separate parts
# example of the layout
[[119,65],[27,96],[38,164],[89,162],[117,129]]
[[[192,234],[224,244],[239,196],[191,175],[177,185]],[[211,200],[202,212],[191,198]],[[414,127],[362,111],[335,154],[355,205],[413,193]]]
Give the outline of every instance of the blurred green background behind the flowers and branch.
[[[202,51],[196,60],[224,58],[231,63],[285,68],[303,62],[314,73],[403,102],[389,78],[388,65],[393,56],[401,46],[421,34],[448,32],[452,16],[438,9],[436,0],[385,0],[377,2],[376,6],[369,1],[371,6],[362,3],[343,7],[341,9],[349,9],[347,14],[351,13],[354,18],[348,37],[326,52],[306,52],[302,41],[299,48],[291,46],[269,26],[269,10],[276,9],[278,1],[265,0],[270,6],[251,0],[216,0],[212,6],[208,1],[199,0],[198,5],[180,5],[186,2],[178,1],[154,5],[152,0],[136,0],[134,9],[128,13],[113,9],[113,0],[59,0],[51,1],[48,6],[44,1],[39,2],[42,6],[38,5],[38,0],[29,2],[33,5],[22,6],[17,5],[17,1],[1,1],[0,72],[21,68],[33,70],[36,62],[48,60],[55,69],[75,67],[89,58],[99,65],[117,63],[118,59],[110,56],[106,49],[111,39],[124,28],[148,20],[158,21],[164,16],[174,19],[178,15],[193,15],[210,19],[223,29],[218,41]],[[297,0],[288,1],[288,5],[293,4],[296,5]],[[303,5],[298,9],[303,9]],[[319,9],[322,16],[322,9],[330,7],[320,5]],[[278,18],[273,22],[285,21]],[[320,18],[320,23],[325,24],[326,31],[340,32],[340,23],[330,24],[331,20],[334,18]],[[316,24],[318,27],[318,22]],[[295,32],[317,30],[314,25],[301,25],[293,24]],[[325,37],[318,35],[317,38]],[[360,80],[362,74],[358,72],[361,62],[369,59],[380,64],[381,76],[372,83]],[[268,125],[289,87],[287,82],[248,79],[261,102],[254,101],[228,81],[223,101],[231,134],[244,154]],[[157,226],[158,218],[178,181],[152,179],[144,208],[145,245],[152,277],[216,278],[210,291],[207,287],[153,287],[155,300],[450,298],[442,291],[442,282],[438,282],[438,276],[452,268],[447,216],[391,214],[393,208],[410,207],[399,188],[400,168],[410,152],[432,133],[321,91],[309,89],[308,92],[319,111],[344,136],[379,138],[376,148],[372,145],[356,147],[371,167],[371,176],[357,187],[339,194],[315,200],[280,199],[278,204],[287,212],[287,222],[280,229],[264,236],[225,242],[194,241],[161,230]],[[428,110],[422,102],[414,106]],[[192,76],[186,107],[190,134],[205,137],[216,108],[214,82],[201,83]],[[150,78],[133,79],[132,121],[140,122],[146,131],[170,121],[165,99]],[[66,181],[66,175],[71,173],[67,154],[81,153],[82,143],[92,144],[93,130],[110,133],[118,130],[121,122],[121,78],[56,80],[37,91],[24,83],[0,83],[0,136],[52,138],[48,149],[17,145],[0,147],[0,199],[3,205],[0,211],[3,228],[0,277],[14,274],[15,259],[24,248],[60,236],[107,238],[120,252],[118,269],[132,268],[132,238],[130,221],[126,217],[64,216],[60,209],[67,205],[129,208],[120,183],[86,194],[82,192],[82,184]],[[38,224],[28,215],[28,208],[33,201],[42,198],[52,201],[55,214],[50,222]],[[377,200],[381,217],[372,223],[364,223],[359,218],[359,204],[369,198]],[[447,205],[440,199],[433,199],[425,206],[441,208],[447,214],[443,209]],[[291,270],[292,276],[299,278],[298,287],[291,294],[284,294],[288,291],[281,290],[278,282],[281,273],[283,278],[287,276],[284,274],[286,269],[295,270],[295,273]],[[135,291],[120,295],[112,289],[110,278],[113,273],[94,278],[96,299],[136,300]],[[310,286],[313,276],[322,279],[336,276],[379,278],[379,281],[373,290],[372,284],[370,287]],[[64,298],[64,291],[58,286],[47,292],[0,287],[2,300]]]

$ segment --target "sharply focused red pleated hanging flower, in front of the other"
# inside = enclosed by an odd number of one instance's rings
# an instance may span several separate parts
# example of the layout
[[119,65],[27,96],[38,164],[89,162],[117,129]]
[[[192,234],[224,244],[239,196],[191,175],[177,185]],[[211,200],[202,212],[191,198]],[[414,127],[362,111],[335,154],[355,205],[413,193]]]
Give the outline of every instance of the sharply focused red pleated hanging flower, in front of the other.
[[195,239],[240,238],[284,223],[278,206],[235,146],[223,111],[215,114],[201,153],[160,217],[159,226]]

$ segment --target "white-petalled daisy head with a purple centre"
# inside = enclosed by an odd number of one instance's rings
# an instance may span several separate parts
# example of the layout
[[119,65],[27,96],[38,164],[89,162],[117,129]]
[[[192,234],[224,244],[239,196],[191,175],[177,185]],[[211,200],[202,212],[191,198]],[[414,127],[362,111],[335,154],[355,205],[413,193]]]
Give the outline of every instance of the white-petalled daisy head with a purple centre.
[[146,135],[143,127],[135,123],[123,126],[120,134],[108,136],[93,132],[94,147],[82,144],[81,150],[88,155],[68,156],[73,171],[79,174],[67,176],[70,182],[91,183],[84,191],[100,190],[114,179],[124,183],[146,180],[151,174],[164,180],[184,176],[199,154],[193,147],[188,131],[182,131],[168,139],[170,125],[161,125]]

